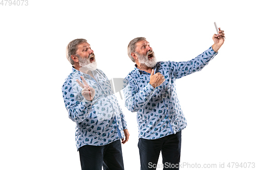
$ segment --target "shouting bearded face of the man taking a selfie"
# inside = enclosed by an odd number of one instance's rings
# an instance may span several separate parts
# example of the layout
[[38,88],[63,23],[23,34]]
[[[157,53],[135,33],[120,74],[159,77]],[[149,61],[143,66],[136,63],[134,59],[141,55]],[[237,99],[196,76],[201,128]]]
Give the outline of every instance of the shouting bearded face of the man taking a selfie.
[[157,60],[149,42],[146,40],[137,42],[135,51],[140,64],[147,67],[154,67],[156,65]]

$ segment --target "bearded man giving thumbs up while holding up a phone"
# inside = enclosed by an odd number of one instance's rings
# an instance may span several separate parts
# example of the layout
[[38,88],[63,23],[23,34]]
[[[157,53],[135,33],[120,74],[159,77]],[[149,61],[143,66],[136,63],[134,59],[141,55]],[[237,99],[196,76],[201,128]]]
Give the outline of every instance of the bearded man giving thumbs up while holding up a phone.
[[137,112],[141,169],[156,169],[160,151],[164,169],[179,169],[181,131],[186,118],[181,110],[175,81],[201,70],[218,54],[224,31],[212,37],[214,44],[187,62],[156,61],[150,43],[143,37],[128,45],[135,69],[125,78],[125,106]]

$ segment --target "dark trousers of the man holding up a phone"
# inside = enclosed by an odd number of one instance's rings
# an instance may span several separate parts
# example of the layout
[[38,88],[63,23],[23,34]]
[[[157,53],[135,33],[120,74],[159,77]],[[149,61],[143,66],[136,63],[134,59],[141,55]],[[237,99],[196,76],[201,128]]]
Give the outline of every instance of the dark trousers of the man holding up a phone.
[[[140,169],[179,169],[181,151],[181,131],[159,139],[139,138]],[[157,165],[162,152],[163,164]]]

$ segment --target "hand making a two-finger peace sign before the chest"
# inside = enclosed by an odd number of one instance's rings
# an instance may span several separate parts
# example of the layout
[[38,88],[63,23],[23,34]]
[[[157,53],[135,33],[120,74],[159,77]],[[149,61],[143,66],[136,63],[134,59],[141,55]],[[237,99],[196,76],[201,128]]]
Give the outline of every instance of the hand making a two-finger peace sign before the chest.
[[76,82],[79,84],[80,87],[82,87],[82,95],[84,96],[84,98],[86,98],[86,100],[92,101],[95,95],[95,89],[90,87],[82,76],[80,78],[82,79],[83,83],[80,82],[78,79],[76,79]]

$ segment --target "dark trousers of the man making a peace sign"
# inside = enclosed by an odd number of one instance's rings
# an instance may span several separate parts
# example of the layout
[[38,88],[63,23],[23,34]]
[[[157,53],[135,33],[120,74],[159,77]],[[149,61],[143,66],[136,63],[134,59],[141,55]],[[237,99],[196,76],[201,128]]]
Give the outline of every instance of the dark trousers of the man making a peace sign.
[[120,140],[102,146],[84,145],[79,148],[82,170],[123,170]]

